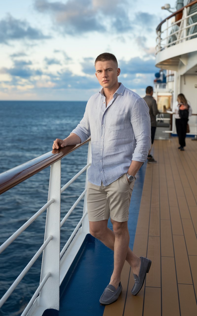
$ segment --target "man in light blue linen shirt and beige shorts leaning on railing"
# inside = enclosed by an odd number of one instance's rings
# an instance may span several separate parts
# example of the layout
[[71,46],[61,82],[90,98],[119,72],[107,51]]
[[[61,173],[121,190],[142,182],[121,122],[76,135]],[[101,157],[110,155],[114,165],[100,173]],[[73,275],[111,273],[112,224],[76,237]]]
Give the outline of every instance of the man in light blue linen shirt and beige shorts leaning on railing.
[[[114,270],[100,298],[108,305],[122,291],[120,274],[129,262],[134,273],[132,294],[144,283],[151,261],[138,258],[129,248],[127,221],[136,173],[151,147],[150,116],[146,102],[118,82],[116,57],[103,53],[95,61],[96,77],[102,86],[87,103],[84,117],[64,140],[56,139],[53,149],[84,142],[91,134],[92,164],[87,187],[90,234],[114,250]],[[113,231],[107,228],[109,217]]]

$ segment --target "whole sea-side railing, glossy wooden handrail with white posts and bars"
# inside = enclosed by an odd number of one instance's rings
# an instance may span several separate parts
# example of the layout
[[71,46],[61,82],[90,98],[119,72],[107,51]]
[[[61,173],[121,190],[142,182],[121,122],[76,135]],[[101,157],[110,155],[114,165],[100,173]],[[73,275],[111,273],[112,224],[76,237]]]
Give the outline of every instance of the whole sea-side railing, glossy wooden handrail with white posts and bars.
[[[88,161],[87,165],[83,167],[71,180],[69,180],[62,188],[61,188],[61,159],[78,149],[85,143],[89,142],[89,150],[88,150]],[[27,227],[29,227],[37,218],[40,216],[44,210],[47,209],[47,216],[46,216],[46,227],[45,227],[45,236],[44,242],[39,250],[35,253],[26,267],[22,270],[20,275],[16,278],[16,280],[12,283],[6,293],[0,300],[0,307],[5,303],[5,301],[9,298],[12,294],[14,289],[32,267],[32,265],[36,262],[38,257],[43,252],[43,259],[42,259],[42,268],[41,268],[41,277],[40,277],[40,285],[38,289],[32,296],[32,299],[24,309],[21,316],[34,315],[34,311],[31,310],[33,307],[33,303],[35,300],[40,299],[40,306],[42,308],[47,309],[48,306],[44,306],[44,304],[50,303],[51,308],[59,309],[59,286],[60,286],[60,259],[65,254],[67,248],[71,244],[72,240],[79,232],[79,228],[83,224],[85,218],[87,218],[87,210],[86,210],[86,186],[87,186],[87,169],[91,165],[91,144],[90,138],[82,144],[78,144],[75,146],[67,146],[63,149],[53,150],[47,154],[39,156],[32,161],[28,161],[23,165],[10,169],[2,174],[0,174],[0,194],[9,190],[10,188],[14,187],[15,185],[19,184],[20,182],[26,180],[27,178],[31,177],[32,175],[40,172],[44,168],[50,166],[50,180],[49,180],[49,195],[48,195],[48,202],[43,205],[43,207],[38,210],[27,222],[25,222],[14,234],[12,234],[1,246],[0,246],[0,253],[2,253]],[[85,189],[72,205],[70,210],[67,212],[66,216],[60,222],[60,200],[61,200],[61,193],[64,192],[69,185],[73,183],[82,173],[86,171],[86,184]],[[78,205],[79,201],[84,197],[84,211],[83,216],[81,217],[80,221],[78,222],[77,226],[73,230],[71,236],[69,237],[67,243],[61,250],[60,249],[60,228],[66,222],[69,215]],[[86,231],[87,231],[87,225]],[[52,228],[52,233],[51,229]],[[53,253],[54,256],[51,256]],[[54,261],[53,261],[54,260]],[[51,262],[48,264],[48,262]],[[49,290],[49,293],[52,293],[51,297],[46,295],[46,287],[44,287],[45,283],[47,282],[47,288],[52,289]],[[42,291],[42,297],[39,295]],[[49,295],[50,296],[50,295]],[[44,297],[44,299],[43,299]],[[36,304],[35,304],[36,305]],[[31,313],[32,311],[32,313]],[[43,310],[44,311],[44,310]]]

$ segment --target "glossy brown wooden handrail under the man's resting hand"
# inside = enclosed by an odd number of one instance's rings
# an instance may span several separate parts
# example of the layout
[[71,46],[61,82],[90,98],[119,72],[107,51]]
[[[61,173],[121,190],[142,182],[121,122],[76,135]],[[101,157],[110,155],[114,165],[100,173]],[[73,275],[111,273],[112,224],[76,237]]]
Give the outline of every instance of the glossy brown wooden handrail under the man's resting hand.
[[27,161],[17,167],[9,169],[0,174],[0,194],[9,189],[13,188],[15,185],[23,182],[24,180],[32,177],[34,174],[40,172],[41,170],[49,167],[54,162],[60,160],[66,155],[72,153],[74,150],[83,146],[85,143],[90,142],[88,138],[84,143],[72,146],[66,146],[61,149],[54,149],[48,153],[39,156],[35,159]]

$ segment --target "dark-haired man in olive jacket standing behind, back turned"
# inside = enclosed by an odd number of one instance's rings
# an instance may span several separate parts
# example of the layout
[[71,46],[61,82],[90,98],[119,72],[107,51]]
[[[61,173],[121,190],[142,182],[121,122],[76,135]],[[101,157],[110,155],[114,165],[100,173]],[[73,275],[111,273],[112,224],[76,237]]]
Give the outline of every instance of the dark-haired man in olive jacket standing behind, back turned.
[[[153,145],[154,142],[154,135],[156,131],[157,121],[156,121],[156,115],[159,113],[157,109],[157,102],[155,101],[153,97],[153,87],[148,86],[146,88],[146,96],[143,98],[148,107],[149,107],[149,114],[150,114],[150,122],[151,122],[151,144]],[[154,160],[153,156],[150,154],[151,149],[148,153],[148,163],[156,163],[157,161]]]

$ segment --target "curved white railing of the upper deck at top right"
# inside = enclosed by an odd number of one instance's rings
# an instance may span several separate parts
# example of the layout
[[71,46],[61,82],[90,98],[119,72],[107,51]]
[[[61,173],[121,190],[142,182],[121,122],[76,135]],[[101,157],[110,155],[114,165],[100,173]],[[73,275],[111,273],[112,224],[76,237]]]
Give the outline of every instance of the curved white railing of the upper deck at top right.
[[[196,5],[196,3],[193,5]],[[164,23],[160,25],[159,29],[157,29],[156,54],[167,47],[190,40],[192,37],[197,36],[197,31],[194,32],[195,26],[197,26],[197,21],[193,22],[192,20],[194,16],[196,18],[197,11],[188,15],[191,6],[183,8],[183,16],[180,20],[174,22],[173,19],[176,15],[174,14],[171,18],[167,18]]]

